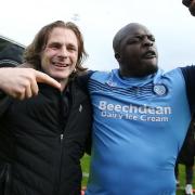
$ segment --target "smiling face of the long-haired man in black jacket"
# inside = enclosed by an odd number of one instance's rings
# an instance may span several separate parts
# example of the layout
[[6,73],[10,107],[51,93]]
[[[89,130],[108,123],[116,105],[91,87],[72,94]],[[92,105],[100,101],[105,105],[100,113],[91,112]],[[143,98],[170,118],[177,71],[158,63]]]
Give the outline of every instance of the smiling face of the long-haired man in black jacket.
[[63,84],[75,70],[77,60],[78,41],[75,32],[63,27],[53,28],[41,52],[42,70]]

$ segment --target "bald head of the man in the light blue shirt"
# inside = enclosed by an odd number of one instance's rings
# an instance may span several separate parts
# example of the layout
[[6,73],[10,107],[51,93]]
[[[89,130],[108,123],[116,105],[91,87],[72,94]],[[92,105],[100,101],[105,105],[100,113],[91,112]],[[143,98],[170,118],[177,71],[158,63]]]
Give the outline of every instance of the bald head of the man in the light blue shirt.
[[155,38],[140,24],[132,23],[119,30],[114,38],[114,50],[121,76],[144,77],[158,69]]

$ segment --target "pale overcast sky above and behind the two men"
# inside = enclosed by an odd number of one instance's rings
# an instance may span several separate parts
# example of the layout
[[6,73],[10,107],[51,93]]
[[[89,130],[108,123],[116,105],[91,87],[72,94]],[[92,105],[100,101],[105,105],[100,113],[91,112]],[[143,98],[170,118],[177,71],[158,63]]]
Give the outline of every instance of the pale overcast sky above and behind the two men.
[[117,68],[112,41],[129,23],[146,26],[156,38],[165,70],[195,64],[195,17],[182,0],[2,0],[0,35],[28,46],[44,25],[76,23],[84,38],[90,69]]

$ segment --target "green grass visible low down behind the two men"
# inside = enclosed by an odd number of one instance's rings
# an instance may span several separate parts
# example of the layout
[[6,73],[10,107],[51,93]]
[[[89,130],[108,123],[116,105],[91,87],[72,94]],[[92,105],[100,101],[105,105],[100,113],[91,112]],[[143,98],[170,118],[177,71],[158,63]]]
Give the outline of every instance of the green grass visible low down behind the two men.
[[[82,167],[82,186],[87,185],[88,182],[88,176],[89,176],[89,164],[90,164],[90,156],[84,155],[81,160],[81,167]],[[184,186],[185,186],[185,170],[183,165],[179,165],[179,171],[180,171],[180,188],[177,191],[177,195],[184,195]],[[194,177],[195,178],[195,177]],[[195,186],[195,180],[193,181],[193,186]]]

